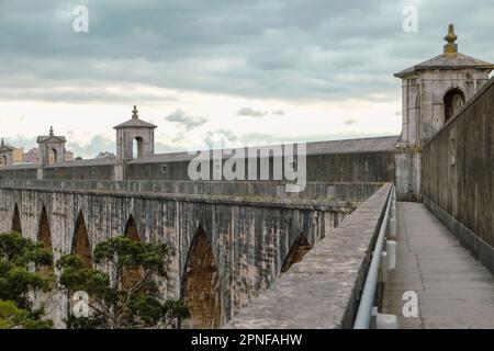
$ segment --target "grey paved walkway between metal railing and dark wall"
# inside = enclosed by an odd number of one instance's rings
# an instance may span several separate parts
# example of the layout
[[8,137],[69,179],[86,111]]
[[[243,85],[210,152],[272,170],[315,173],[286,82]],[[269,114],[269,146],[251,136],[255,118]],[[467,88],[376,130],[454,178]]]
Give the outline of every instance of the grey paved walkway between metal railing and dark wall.
[[[425,205],[397,203],[396,253],[383,313],[397,315],[400,328],[494,328],[494,275]],[[417,318],[403,317],[405,291],[418,295]]]

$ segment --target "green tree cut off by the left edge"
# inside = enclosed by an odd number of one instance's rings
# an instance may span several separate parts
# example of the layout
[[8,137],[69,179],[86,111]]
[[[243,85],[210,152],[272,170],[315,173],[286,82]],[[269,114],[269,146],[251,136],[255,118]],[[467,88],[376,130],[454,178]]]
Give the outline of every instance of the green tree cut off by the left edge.
[[50,328],[32,295],[53,287],[52,252],[19,233],[0,234],[0,328]]

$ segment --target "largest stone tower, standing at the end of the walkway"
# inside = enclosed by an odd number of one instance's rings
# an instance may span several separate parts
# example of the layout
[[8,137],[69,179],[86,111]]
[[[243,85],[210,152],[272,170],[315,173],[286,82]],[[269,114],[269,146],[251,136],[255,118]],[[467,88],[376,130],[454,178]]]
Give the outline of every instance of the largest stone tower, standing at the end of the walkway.
[[494,69],[493,64],[459,53],[457,38],[450,24],[441,55],[394,75],[402,79],[402,135],[395,154],[401,200],[420,201],[422,147],[482,88]]

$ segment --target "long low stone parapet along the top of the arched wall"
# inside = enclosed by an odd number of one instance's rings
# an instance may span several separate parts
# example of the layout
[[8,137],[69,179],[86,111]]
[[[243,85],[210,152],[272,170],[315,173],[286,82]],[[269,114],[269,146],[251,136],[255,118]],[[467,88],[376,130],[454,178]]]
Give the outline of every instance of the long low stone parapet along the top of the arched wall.
[[[53,181],[0,180],[0,188],[35,189],[54,192],[93,192],[131,194],[132,196],[171,197],[182,200],[244,201],[265,203],[296,203],[315,201],[316,204],[345,205],[359,203],[371,196],[382,183],[324,183],[313,182],[303,192],[288,193],[287,183],[270,181]],[[323,202],[322,202],[323,201]]]

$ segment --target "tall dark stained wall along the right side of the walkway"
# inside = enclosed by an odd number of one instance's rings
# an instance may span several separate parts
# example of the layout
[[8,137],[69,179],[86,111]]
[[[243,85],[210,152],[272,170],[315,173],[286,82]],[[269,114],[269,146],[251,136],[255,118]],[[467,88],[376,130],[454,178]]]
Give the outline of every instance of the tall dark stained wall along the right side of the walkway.
[[423,193],[494,246],[494,79],[423,151]]

